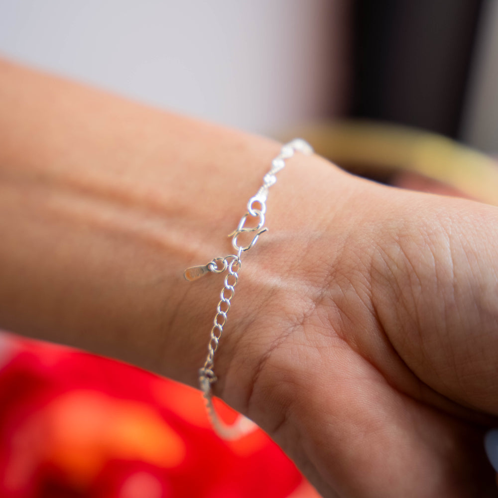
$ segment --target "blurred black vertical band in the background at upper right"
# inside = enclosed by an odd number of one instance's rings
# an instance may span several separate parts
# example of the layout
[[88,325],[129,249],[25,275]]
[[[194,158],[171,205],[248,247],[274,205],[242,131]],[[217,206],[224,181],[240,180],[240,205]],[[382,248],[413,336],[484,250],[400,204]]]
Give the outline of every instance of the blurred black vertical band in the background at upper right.
[[460,137],[483,3],[355,0],[349,114]]

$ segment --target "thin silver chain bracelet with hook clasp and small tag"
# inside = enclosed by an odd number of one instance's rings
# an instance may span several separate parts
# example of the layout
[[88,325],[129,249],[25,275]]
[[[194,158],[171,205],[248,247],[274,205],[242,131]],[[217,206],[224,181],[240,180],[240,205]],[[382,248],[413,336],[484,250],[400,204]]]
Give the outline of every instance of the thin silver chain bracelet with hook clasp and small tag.
[[[209,263],[201,266],[192,266],[185,270],[184,276],[186,280],[197,280],[201,276],[211,273],[222,273],[227,271],[225,276],[225,284],[220,293],[220,302],[216,308],[216,315],[211,328],[211,336],[208,343],[208,355],[204,366],[199,369],[199,384],[206,400],[206,408],[211,423],[224,439],[237,439],[244,434],[247,434],[253,429],[254,424],[246,417],[241,416],[233,425],[225,424],[217,415],[213,406],[213,391],[212,384],[216,382],[217,377],[213,371],[214,355],[220,344],[220,339],[223,334],[223,327],[227,323],[227,314],[230,311],[232,298],[235,294],[235,286],[239,281],[239,271],[241,269],[241,255],[243,252],[251,249],[257,242],[259,236],[268,229],[264,227],[264,215],[266,213],[266,199],[268,197],[268,189],[276,182],[275,174],[285,166],[285,160],[294,155],[294,152],[301,152],[306,155],[311,155],[313,149],[301,138],[286,143],[282,146],[280,153],[271,161],[271,168],[263,177],[263,185],[257,193],[249,199],[247,213],[241,218],[237,228],[229,235],[232,238],[232,246],[237,251],[236,254],[230,254],[225,257],[215,257]],[[259,207],[257,207],[259,206]],[[257,225],[246,227],[248,218],[256,218]],[[239,236],[245,233],[255,232],[252,240],[247,246],[238,242]]]

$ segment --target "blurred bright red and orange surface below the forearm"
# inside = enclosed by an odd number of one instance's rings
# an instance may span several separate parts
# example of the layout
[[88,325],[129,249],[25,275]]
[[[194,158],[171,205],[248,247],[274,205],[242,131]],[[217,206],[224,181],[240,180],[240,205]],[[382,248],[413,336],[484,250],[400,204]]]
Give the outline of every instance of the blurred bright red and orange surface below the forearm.
[[69,348],[0,339],[1,497],[318,496],[262,431],[221,440],[195,389]]

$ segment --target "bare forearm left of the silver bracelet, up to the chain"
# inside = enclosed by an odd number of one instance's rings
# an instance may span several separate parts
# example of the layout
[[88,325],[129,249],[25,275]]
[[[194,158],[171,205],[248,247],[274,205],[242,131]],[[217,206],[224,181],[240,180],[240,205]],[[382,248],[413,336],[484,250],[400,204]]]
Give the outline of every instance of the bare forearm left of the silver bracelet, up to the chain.
[[219,285],[183,269],[231,250],[278,144],[0,74],[1,326],[197,385]]

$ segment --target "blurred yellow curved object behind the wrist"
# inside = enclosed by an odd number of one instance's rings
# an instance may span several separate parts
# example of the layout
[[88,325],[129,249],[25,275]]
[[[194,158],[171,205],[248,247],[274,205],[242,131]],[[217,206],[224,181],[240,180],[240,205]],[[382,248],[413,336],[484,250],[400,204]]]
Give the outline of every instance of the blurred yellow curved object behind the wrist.
[[353,173],[410,172],[498,205],[498,163],[454,140],[406,126],[342,121],[293,128],[315,151]]

